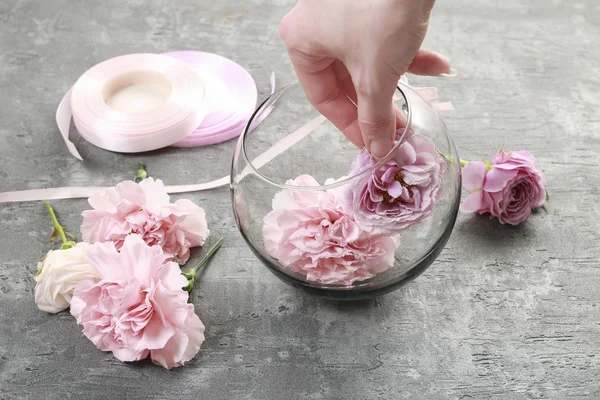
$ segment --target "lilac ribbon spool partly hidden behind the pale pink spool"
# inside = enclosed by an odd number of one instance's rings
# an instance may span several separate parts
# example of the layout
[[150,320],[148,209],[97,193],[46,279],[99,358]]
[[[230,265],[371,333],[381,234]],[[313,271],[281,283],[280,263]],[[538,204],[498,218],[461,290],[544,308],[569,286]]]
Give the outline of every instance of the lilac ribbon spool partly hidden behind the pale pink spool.
[[197,147],[239,136],[256,109],[258,92],[252,75],[217,54],[200,51],[165,53],[189,65],[206,87],[206,116],[176,147]]

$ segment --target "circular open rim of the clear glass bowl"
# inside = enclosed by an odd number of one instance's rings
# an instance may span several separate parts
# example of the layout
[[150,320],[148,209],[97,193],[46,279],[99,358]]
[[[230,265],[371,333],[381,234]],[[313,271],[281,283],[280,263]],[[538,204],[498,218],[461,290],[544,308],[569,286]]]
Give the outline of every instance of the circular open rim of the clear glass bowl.
[[[407,85],[405,85],[402,82],[398,82],[398,85],[396,86],[396,90],[399,91],[400,94],[402,95],[402,98],[404,99],[404,102],[406,104],[406,109],[407,109],[406,126],[404,127],[404,130],[402,131],[402,134],[400,135],[400,139],[397,140],[397,142],[394,144],[394,147],[392,147],[392,149],[388,152],[388,154],[386,154],[379,161],[377,161],[374,165],[372,165],[371,167],[367,168],[363,172],[360,172],[360,173],[358,173],[356,175],[345,176],[343,179],[340,179],[338,181],[335,181],[335,182],[327,184],[327,185],[297,186],[297,185],[289,185],[287,183],[276,182],[272,178],[270,178],[267,175],[265,175],[262,172],[260,172],[259,168],[257,169],[254,166],[254,164],[252,163],[252,161],[250,160],[250,158],[248,157],[248,154],[246,152],[246,138],[248,137],[248,134],[250,133],[250,127],[252,126],[252,123],[260,115],[260,113],[264,110],[264,107],[269,102],[269,100],[271,100],[273,98],[278,98],[281,95],[283,95],[283,93],[285,91],[290,90],[290,89],[292,89],[294,87],[297,87],[299,85],[300,85],[300,83],[298,81],[296,81],[294,83],[291,83],[289,85],[286,85],[286,86],[282,87],[277,92],[275,92],[275,93],[271,94],[269,97],[267,97],[260,104],[260,106],[258,106],[258,108],[254,111],[254,113],[252,113],[252,116],[250,117],[250,120],[248,121],[248,123],[244,127],[244,131],[242,132],[242,135],[241,135],[241,142],[242,142],[242,146],[241,147],[242,147],[242,155],[244,157],[244,161],[246,162],[246,164],[251,168],[251,170],[260,179],[262,179],[263,181],[267,182],[269,185],[276,186],[276,187],[278,187],[280,189],[294,190],[294,191],[306,191],[306,192],[330,190],[330,189],[338,188],[340,186],[347,185],[347,184],[349,184],[351,182],[354,182],[354,181],[356,181],[356,180],[358,180],[358,179],[360,179],[360,178],[362,178],[362,177],[370,174],[371,172],[373,172],[373,171],[377,170],[378,168],[380,168],[381,166],[385,165],[394,156],[394,154],[396,153],[396,151],[398,150],[398,148],[402,144],[402,139],[406,136],[407,132],[409,131],[409,128],[410,128],[410,125],[411,125],[411,120],[412,120],[412,107],[410,105],[408,97],[404,93],[403,89],[400,88],[400,86],[405,86],[404,90],[407,90],[407,89],[410,90],[410,87],[408,87]],[[319,115],[322,115],[322,114],[319,113]],[[359,150],[359,151],[362,151],[362,149]],[[290,179],[294,179],[294,178],[290,178]]]

